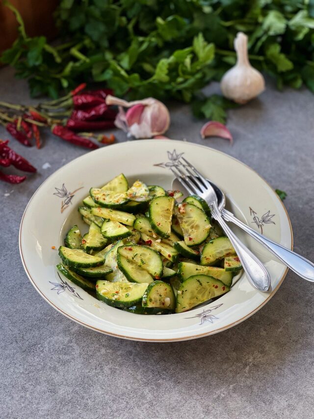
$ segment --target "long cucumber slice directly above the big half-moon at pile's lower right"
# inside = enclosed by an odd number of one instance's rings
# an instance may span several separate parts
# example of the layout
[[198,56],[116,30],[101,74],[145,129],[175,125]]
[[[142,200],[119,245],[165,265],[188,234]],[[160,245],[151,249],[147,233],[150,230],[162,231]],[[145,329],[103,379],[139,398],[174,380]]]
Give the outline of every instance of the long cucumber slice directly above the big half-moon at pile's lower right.
[[219,279],[229,287],[232,284],[232,272],[226,272],[223,268],[216,268],[215,266],[201,266],[189,262],[180,262],[178,264],[178,276],[182,282],[193,275],[199,274]]

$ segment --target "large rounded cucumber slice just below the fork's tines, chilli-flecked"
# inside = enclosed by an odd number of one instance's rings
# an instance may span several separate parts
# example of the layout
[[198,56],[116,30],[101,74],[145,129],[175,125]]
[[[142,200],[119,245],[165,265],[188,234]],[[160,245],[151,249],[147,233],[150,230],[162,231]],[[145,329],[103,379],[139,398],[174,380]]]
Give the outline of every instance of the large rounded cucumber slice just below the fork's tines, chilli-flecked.
[[186,246],[196,246],[207,239],[211,226],[203,210],[184,202],[175,207],[175,214],[183,231]]

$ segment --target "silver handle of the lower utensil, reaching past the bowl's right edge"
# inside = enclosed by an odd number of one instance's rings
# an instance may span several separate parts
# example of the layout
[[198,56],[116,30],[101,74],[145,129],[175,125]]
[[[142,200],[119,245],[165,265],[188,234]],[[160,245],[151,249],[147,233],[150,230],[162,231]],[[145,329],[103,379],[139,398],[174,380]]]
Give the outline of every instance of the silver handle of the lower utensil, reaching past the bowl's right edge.
[[314,282],[314,263],[258,233],[253,228],[238,220],[231,212],[223,210],[222,217],[246,231],[301,278]]

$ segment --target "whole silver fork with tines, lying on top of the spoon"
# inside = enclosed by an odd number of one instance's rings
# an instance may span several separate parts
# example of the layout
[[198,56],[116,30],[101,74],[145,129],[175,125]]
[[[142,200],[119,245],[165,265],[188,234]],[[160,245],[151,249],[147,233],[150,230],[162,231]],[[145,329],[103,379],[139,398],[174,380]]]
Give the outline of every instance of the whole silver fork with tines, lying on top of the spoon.
[[181,159],[185,164],[179,161],[179,164],[174,164],[170,170],[190,194],[201,196],[208,203],[212,217],[222,226],[231,241],[251,284],[260,291],[268,291],[269,273],[262,262],[236,237],[221,217],[217,196],[209,181],[184,157]]

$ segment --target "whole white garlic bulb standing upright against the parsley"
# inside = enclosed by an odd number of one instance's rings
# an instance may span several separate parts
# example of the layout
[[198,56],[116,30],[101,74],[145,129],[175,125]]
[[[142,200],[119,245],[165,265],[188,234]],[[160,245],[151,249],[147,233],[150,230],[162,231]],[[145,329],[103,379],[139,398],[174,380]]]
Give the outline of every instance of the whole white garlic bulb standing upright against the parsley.
[[247,53],[247,36],[238,32],[235,38],[236,64],[223,76],[222,94],[237,103],[246,103],[265,89],[262,74],[250,64]]

